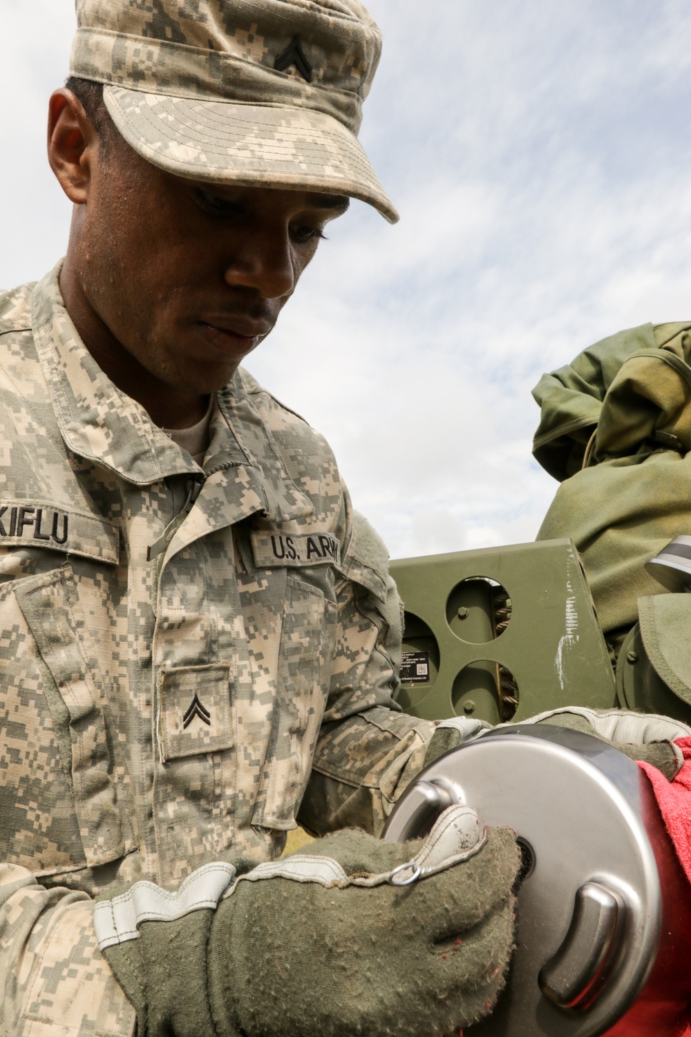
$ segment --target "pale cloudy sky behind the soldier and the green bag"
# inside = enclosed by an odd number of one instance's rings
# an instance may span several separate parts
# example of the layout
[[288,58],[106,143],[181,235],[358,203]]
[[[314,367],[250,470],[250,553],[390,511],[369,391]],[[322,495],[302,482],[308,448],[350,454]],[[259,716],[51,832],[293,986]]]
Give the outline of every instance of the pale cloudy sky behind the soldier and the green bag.
[[[246,366],[332,444],[392,557],[531,540],[556,483],[530,389],[690,320],[687,0],[370,0],[361,141],[401,213],[332,224]],[[64,252],[45,158],[71,0],[0,0],[0,287]]]

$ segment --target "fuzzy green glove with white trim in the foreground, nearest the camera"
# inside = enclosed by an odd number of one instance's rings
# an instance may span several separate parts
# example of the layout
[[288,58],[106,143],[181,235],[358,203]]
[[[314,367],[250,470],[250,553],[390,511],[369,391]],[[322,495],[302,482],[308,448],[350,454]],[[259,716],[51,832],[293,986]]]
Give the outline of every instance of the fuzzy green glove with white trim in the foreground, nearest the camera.
[[96,904],[139,1037],[433,1037],[486,1015],[509,964],[510,829],[456,805],[429,836],[358,830]]

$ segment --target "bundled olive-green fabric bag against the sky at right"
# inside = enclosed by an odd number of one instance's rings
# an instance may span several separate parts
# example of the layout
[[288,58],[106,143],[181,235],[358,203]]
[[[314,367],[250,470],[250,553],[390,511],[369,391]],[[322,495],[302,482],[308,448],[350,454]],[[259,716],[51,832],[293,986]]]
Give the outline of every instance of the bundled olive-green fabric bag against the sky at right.
[[643,325],[585,349],[534,390],[536,458],[562,482],[538,539],[571,537],[616,652],[638,598],[666,593],[644,568],[691,533],[691,324]]

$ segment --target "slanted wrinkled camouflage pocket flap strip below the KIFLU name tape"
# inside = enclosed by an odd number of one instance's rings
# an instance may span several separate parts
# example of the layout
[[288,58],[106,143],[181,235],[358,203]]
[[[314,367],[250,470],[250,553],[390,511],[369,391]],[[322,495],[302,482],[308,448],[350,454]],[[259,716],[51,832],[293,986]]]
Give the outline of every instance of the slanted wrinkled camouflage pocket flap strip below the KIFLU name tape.
[[15,596],[49,671],[45,693],[84,858],[93,868],[124,856],[136,843],[127,816],[129,778],[77,581],[71,567],[63,565],[18,581]]

